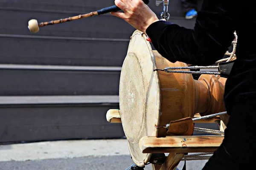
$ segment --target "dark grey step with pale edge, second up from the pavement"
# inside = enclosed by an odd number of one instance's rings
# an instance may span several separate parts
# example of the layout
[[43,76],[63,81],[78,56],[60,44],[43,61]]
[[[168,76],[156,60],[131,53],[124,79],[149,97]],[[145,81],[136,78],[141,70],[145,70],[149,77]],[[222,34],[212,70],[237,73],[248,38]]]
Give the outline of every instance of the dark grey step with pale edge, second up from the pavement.
[[0,96],[118,95],[120,67],[0,65]]

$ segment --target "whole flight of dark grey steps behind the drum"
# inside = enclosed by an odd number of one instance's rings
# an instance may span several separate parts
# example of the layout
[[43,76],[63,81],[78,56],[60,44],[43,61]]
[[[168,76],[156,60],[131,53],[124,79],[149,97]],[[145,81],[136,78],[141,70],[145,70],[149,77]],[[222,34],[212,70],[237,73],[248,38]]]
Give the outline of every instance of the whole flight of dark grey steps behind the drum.
[[[119,70],[135,29],[110,14],[47,26],[38,34],[27,28],[33,18],[57,20],[113,2],[0,0],[0,101],[10,96],[11,101],[19,101],[0,103],[0,142],[124,136],[122,125],[108,123],[105,114],[119,108]],[[157,7],[151,0],[149,6],[160,16],[162,5]],[[170,22],[193,28],[195,20],[184,20],[179,0],[170,1],[169,12]],[[83,68],[78,70],[78,66]],[[98,102],[90,102],[88,95]],[[106,95],[116,100],[105,101]],[[65,102],[60,104],[55,96]],[[86,100],[74,102],[69,96]],[[40,104],[44,100],[51,102]]]

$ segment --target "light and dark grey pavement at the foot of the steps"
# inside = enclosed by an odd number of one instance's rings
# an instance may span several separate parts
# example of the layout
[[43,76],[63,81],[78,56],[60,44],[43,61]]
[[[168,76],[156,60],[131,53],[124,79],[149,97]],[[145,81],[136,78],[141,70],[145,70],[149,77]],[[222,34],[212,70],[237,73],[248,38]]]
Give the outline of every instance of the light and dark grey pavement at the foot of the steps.
[[[200,170],[206,162],[186,161],[186,170]],[[0,145],[0,170],[125,170],[133,163],[126,139]]]

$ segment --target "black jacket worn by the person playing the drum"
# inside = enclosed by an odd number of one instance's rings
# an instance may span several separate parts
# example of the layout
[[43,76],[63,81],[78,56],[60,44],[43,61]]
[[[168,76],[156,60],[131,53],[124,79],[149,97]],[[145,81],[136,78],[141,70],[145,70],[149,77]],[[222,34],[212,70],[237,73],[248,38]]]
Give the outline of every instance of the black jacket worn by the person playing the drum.
[[[238,100],[256,101],[255,1],[204,0],[194,29],[158,21],[146,30],[154,48],[171,62],[212,65],[238,35],[236,62],[225,85],[227,111]],[[256,102],[255,102],[256,103]]]

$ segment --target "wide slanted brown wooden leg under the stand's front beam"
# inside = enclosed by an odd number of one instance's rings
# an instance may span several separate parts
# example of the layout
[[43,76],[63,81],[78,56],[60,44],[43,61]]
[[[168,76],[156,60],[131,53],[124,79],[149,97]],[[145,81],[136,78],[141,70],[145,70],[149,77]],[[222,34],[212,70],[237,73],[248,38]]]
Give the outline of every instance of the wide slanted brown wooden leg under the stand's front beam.
[[183,156],[184,153],[169,153],[160,170],[175,170]]

